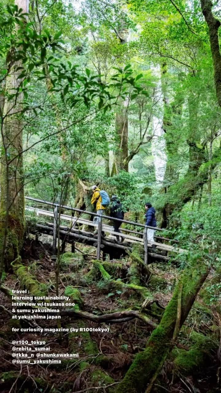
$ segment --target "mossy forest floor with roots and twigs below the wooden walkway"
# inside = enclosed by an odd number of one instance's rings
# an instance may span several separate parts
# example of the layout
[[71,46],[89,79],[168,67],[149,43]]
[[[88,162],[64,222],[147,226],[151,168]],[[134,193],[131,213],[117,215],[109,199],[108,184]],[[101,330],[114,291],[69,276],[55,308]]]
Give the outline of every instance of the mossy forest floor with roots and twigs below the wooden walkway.
[[[142,310],[148,318],[160,323],[164,308],[172,298],[179,268],[171,264],[143,264],[141,250],[121,260],[97,261],[94,249],[78,245],[80,251],[71,253],[67,246],[61,259],[59,294],[69,296],[75,310],[100,315],[119,310]],[[13,274],[4,274],[4,285],[28,289],[35,295],[55,295],[55,264],[50,258],[48,244],[30,239],[24,246],[22,261],[15,263]],[[194,391],[215,393],[219,385],[219,304],[210,301],[209,288],[214,285],[211,273],[193,305],[171,354],[159,374],[153,393]],[[214,288],[214,287],[213,287]],[[216,289],[216,288],[215,288]],[[11,300],[0,292],[0,304],[11,311]],[[69,309],[71,307],[68,307]],[[164,316],[165,318],[165,316]],[[168,316],[170,318],[170,316]],[[38,321],[48,327],[48,321]],[[79,316],[65,316],[62,327],[109,328],[109,332],[76,331],[44,336],[55,353],[78,353],[79,357],[62,360],[58,365],[11,364],[12,327],[27,327],[25,321],[12,319],[0,309],[0,391],[1,393],[71,393],[96,387],[99,393],[115,393],[119,382],[134,358],[142,353],[153,328],[134,318],[123,323],[96,323]],[[57,322],[50,321],[50,327]],[[19,333],[18,339],[42,340],[40,333]],[[157,336],[156,336],[157,337]],[[153,336],[152,336],[153,339]],[[218,354],[218,355],[217,355]],[[93,390],[91,390],[93,391]],[[125,392],[126,393],[126,392]]]

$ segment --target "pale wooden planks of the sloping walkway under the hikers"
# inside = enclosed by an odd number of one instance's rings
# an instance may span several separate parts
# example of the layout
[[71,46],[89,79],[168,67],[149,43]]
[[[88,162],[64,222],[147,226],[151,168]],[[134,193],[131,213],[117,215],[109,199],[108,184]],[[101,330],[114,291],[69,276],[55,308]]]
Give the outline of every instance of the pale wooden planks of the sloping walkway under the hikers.
[[[43,216],[46,216],[46,217],[54,218],[53,211],[48,211],[48,210],[39,209],[39,208],[33,208],[33,207],[30,207],[30,206],[26,206],[25,209],[27,211],[32,211],[33,213],[36,213],[37,216],[43,215]],[[92,227],[96,227],[97,226],[96,224],[94,224],[93,221],[90,221],[90,220],[87,220],[87,219],[83,219],[81,217],[66,215],[66,214],[61,214],[60,219],[69,221],[70,222],[70,226],[68,228],[71,228],[72,230],[75,229],[75,226],[76,226],[77,223],[83,224],[85,226],[92,226]],[[60,226],[60,227],[62,228],[62,226]],[[109,236],[106,237],[107,241],[108,241],[108,239],[116,239],[116,235],[119,236],[119,232],[114,232],[112,226],[104,224],[103,222],[102,222],[102,230],[105,233],[109,233]],[[84,231],[84,233],[86,233],[86,232]],[[88,232],[88,233],[90,233],[90,232]],[[115,235],[115,236],[113,236],[113,235]],[[141,237],[128,235],[127,233],[126,234],[125,233],[120,233],[120,237],[122,237],[125,241],[128,241],[130,243],[144,244],[144,240]],[[187,252],[183,248],[170,246],[169,244],[158,243],[158,242],[153,242],[152,244],[154,244],[158,250],[164,250],[164,251],[175,252],[175,253],[186,253]],[[148,243],[147,245],[149,247],[151,247],[150,243]]]

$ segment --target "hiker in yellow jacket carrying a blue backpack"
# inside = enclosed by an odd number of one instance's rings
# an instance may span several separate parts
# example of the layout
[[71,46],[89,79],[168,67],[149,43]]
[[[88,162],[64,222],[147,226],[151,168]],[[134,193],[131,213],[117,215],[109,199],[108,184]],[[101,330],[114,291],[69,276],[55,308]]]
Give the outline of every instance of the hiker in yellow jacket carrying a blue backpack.
[[[96,213],[103,215],[107,206],[110,203],[110,198],[106,191],[101,190],[96,185],[92,185],[93,195],[90,203],[96,207]],[[94,224],[98,227],[98,222],[100,222],[101,217],[94,216]],[[94,235],[98,234],[98,230],[94,231]]]

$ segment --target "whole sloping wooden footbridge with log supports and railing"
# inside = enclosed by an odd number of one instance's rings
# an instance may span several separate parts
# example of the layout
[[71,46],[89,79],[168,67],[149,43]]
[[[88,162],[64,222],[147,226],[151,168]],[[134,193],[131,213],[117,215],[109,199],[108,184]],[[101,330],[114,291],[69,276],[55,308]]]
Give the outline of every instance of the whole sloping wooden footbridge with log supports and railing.
[[[58,233],[59,238],[62,241],[62,252],[65,251],[66,243],[72,244],[72,252],[75,252],[75,242],[85,243],[89,246],[94,246],[97,248],[98,260],[101,259],[101,256],[104,260],[107,254],[109,254],[110,259],[125,256],[126,254],[131,252],[133,244],[142,244],[142,246],[144,247],[145,264],[152,263],[155,260],[171,261],[171,259],[173,259],[173,256],[168,256],[168,253],[172,253],[172,255],[174,255],[174,253],[186,252],[186,250],[178,246],[179,241],[157,235],[155,236],[155,242],[153,243],[155,248],[153,248],[152,244],[150,244],[147,240],[147,229],[150,228],[155,229],[156,231],[164,231],[164,229],[162,228],[153,228],[151,226],[146,226],[138,222],[120,220],[106,215],[101,216],[96,213],[92,213],[91,211],[72,208],[70,206],[64,206],[54,202],[46,202],[44,200],[31,198],[29,196],[26,196],[25,198],[26,200],[36,202],[38,206],[39,204],[41,204],[52,208],[52,210],[46,210],[33,206],[25,207],[27,212],[32,212],[36,214],[37,217],[42,215],[53,220],[53,222],[44,222],[44,224],[42,224],[42,222],[37,222],[36,229],[32,229],[32,233],[36,233],[37,231],[53,236],[52,244],[53,253],[55,255],[57,253],[56,245]],[[61,214],[61,210],[72,211],[72,215]],[[78,216],[76,215],[76,213]],[[87,220],[81,217],[82,214],[88,215],[90,219]],[[100,217],[100,222],[98,223],[98,225],[91,220],[91,217],[93,216]],[[129,230],[127,228],[120,228],[121,233],[119,234],[119,232],[114,232],[112,226],[104,223],[103,220],[120,221],[125,224],[133,225],[134,227],[140,227],[142,228],[142,232]],[[61,222],[64,223],[65,221],[68,222],[67,226],[61,225]],[[60,225],[58,225],[58,223],[60,223]],[[95,235],[88,230],[84,230],[84,228],[89,227],[96,227],[96,229],[98,229],[98,234]],[[116,240],[116,236],[119,235],[121,237],[121,241]],[[171,244],[166,244],[164,242],[175,244],[175,246],[172,246]]]

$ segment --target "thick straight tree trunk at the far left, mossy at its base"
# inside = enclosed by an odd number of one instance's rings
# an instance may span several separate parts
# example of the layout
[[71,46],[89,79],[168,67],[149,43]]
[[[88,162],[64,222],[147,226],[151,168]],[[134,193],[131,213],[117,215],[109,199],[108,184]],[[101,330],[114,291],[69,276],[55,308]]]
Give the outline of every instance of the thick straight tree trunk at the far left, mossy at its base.
[[[26,0],[16,0],[18,9],[28,12]],[[4,264],[9,266],[22,248],[24,237],[24,184],[22,163],[22,101],[23,94],[18,92],[21,79],[18,79],[20,61],[11,65],[6,78],[6,92],[16,97],[5,97],[4,121],[2,122],[2,154],[0,168],[0,279]],[[17,89],[17,90],[16,90]]]

